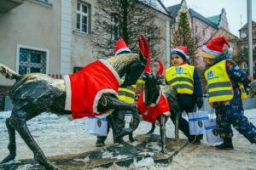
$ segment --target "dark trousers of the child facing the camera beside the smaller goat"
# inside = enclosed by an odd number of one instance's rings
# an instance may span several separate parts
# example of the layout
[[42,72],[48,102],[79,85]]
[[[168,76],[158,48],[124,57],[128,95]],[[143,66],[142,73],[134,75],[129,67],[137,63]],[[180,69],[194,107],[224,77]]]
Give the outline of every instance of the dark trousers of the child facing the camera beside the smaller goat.
[[[193,107],[193,106],[182,106],[182,109],[188,115],[189,112],[194,111],[195,107]],[[178,118],[179,118],[178,119],[178,129],[181,130],[184,133],[184,135],[188,138],[189,137],[195,137],[195,135],[190,135],[189,134],[189,122],[182,117],[182,114],[180,114]],[[175,123],[175,115],[171,114],[171,119],[172,119],[172,122]],[[200,134],[197,137],[198,137],[198,139],[203,139],[203,134]]]

